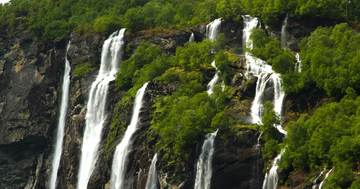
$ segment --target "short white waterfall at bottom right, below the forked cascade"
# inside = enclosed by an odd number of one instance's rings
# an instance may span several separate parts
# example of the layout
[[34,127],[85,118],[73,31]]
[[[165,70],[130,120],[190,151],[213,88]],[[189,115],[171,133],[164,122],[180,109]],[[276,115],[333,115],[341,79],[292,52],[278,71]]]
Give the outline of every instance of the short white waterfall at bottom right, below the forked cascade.
[[273,163],[271,163],[271,168],[269,173],[266,172],[264,184],[262,189],[277,189],[278,188],[278,163],[280,163],[280,158],[283,155],[285,149],[282,149],[280,154],[276,156]]

